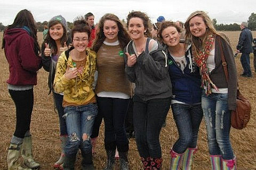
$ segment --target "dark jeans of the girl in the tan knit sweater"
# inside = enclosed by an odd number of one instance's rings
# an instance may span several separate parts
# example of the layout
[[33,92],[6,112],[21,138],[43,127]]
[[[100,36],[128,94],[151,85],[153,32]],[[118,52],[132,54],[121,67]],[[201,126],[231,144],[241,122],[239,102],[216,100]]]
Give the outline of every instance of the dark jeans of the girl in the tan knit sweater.
[[99,113],[105,123],[105,149],[127,152],[129,141],[125,131],[125,117],[130,99],[97,97]]

